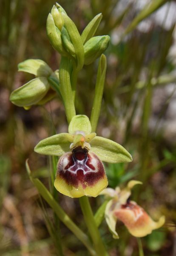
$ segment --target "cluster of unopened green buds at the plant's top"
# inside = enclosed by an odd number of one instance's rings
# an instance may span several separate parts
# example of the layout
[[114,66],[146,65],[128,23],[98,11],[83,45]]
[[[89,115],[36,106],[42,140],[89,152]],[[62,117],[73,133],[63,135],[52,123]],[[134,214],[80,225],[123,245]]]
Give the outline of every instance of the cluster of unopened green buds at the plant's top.
[[[61,55],[74,58],[75,61],[78,61],[77,54],[79,55],[81,52],[84,64],[91,64],[107,49],[110,40],[108,35],[94,37],[101,19],[101,14],[95,16],[80,35],[65,10],[56,3],[56,6],[53,6],[51,13],[48,15],[46,23],[47,35],[51,45]],[[88,29],[89,37],[84,38]]]

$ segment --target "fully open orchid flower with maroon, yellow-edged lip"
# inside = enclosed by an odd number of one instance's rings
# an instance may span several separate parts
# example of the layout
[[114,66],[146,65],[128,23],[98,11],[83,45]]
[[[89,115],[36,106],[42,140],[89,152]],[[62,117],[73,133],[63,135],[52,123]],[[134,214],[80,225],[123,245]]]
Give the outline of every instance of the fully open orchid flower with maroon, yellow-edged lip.
[[91,133],[87,116],[71,119],[68,133],[56,134],[41,140],[34,151],[59,156],[55,188],[71,198],[83,195],[96,197],[108,185],[102,161],[131,162],[128,151],[118,143]]

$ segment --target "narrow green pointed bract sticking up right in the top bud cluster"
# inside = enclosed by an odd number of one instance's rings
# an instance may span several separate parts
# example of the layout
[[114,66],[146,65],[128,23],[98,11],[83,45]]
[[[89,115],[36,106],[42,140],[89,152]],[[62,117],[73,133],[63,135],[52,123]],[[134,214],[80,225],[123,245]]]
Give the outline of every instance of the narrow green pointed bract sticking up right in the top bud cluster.
[[85,29],[82,31],[81,39],[82,43],[84,44],[87,42],[91,37],[94,36],[95,32],[97,31],[97,28],[99,26],[99,23],[102,19],[102,14],[97,14],[85,27]]

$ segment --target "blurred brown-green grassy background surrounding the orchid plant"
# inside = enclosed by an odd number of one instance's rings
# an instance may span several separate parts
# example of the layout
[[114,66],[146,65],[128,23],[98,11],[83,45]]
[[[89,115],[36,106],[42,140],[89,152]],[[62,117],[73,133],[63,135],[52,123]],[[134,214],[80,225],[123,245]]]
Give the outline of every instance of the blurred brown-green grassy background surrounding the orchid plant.
[[[34,146],[55,131],[67,132],[62,102],[54,99],[29,111],[9,102],[15,88],[33,78],[17,73],[27,58],[43,59],[58,69],[60,55],[46,36],[45,24],[55,2],[1,0],[0,26],[0,255],[88,255],[59,223],[28,178],[25,160],[48,186],[51,161]],[[176,1],[60,0],[79,32],[98,13],[96,35],[110,35],[108,68],[97,134],[122,144],[130,164],[106,165],[109,186],[143,182],[132,199],[154,218],[166,216],[160,230],[142,238],[144,255],[176,255]],[[149,4],[152,3],[151,7]],[[146,4],[146,6],[145,6]],[[143,11],[142,11],[143,10]],[[137,17],[137,18],[136,18]],[[77,113],[90,116],[97,62],[79,73]],[[52,189],[52,188],[51,188]],[[60,204],[85,229],[77,199],[59,195]],[[94,211],[103,198],[91,198]],[[105,222],[101,234],[110,256],[139,255],[138,240],[117,224],[113,240]],[[58,242],[59,241],[59,242]]]

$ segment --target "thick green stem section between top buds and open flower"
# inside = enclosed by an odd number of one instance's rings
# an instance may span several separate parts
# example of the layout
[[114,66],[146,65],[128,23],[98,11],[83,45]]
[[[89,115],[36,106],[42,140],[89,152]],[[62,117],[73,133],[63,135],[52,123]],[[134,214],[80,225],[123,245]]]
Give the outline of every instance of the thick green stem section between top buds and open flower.
[[62,57],[59,71],[60,92],[65,106],[65,114],[68,124],[72,117],[76,115],[74,100],[72,96],[71,81],[70,81],[70,60],[67,57]]

